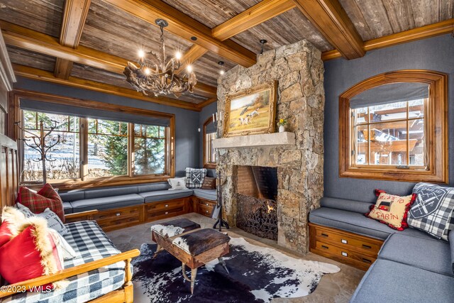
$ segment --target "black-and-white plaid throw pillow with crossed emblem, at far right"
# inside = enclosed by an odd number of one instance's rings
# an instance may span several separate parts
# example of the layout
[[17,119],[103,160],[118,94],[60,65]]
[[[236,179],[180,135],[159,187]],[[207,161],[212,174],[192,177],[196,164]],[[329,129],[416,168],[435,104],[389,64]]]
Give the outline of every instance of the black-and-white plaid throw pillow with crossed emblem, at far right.
[[420,182],[413,192],[418,197],[409,211],[409,226],[448,241],[448,233],[454,229],[454,187]]

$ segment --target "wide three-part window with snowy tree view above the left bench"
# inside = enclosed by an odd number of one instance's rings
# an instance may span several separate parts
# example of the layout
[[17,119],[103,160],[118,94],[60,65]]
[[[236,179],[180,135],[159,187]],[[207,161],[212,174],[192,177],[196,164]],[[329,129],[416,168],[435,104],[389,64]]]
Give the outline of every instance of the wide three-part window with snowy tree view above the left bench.
[[[22,111],[25,131],[22,182],[42,182],[40,154],[31,145],[31,136],[40,136],[57,126],[47,137],[45,162],[48,182],[87,182],[104,180],[148,180],[170,176],[170,127],[134,124],[106,119],[79,118],[39,111]],[[86,160],[84,160],[86,159]],[[142,179],[140,179],[142,178]],[[65,186],[63,186],[64,188]]]

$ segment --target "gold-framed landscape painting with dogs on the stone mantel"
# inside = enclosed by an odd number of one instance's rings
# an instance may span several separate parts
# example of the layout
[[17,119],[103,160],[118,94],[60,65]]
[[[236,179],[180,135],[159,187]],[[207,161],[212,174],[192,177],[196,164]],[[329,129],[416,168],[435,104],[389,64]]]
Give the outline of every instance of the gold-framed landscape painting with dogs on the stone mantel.
[[226,97],[223,137],[275,131],[277,81]]

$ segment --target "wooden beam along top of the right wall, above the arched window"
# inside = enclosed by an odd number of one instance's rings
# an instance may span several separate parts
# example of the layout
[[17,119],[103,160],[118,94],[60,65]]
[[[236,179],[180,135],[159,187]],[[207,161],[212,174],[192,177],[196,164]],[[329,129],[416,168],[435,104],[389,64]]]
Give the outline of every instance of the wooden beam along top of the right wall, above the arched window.
[[[392,35],[385,35],[381,38],[367,40],[364,43],[364,50],[378,50],[380,48],[388,48],[389,46],[399,45],[402,43],[409,43],[411,41],[436,37],[437,35],[445,35],[453,33],[454,31],[454,18],[433,23],[428,26],[421,26],[420,28],[413,28],[409,31],[403,31],[400,33],[394,33]],[[328,50],[321,54],[323,61],[336,59],[342,57],[342,54],[338,50]]]

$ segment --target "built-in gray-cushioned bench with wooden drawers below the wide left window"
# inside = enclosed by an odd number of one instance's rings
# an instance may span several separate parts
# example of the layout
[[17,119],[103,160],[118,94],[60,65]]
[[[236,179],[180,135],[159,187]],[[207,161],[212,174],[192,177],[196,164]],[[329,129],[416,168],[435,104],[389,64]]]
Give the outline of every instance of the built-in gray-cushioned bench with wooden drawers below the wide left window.
[[60,193],[65,214],[98,210],[94,219],[104,231],[165,219],[189,212],[211,216],[215,189],[169,190],[167,182],[76,189]]

